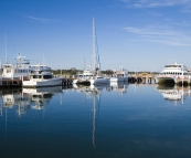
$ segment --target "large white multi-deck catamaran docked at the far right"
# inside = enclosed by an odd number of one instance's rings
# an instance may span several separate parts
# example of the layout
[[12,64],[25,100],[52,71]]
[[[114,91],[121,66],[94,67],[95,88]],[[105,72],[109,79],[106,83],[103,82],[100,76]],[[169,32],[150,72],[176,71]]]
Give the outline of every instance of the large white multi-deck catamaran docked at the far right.
[[190,83],[191,73],[188,71],[187,66],[183,64],[169,64],[165,65],[163,71],[156,76],[156,83],[165,82],[188,82]]

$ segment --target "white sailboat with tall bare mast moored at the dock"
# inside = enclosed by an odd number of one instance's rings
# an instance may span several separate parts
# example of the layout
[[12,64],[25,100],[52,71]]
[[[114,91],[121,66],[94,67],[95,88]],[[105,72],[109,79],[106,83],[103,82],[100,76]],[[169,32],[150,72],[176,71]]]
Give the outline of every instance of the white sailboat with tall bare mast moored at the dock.
[[94,71],[94,76],[89,80],[92,85],[109,83],[109,77],[104,77],[100,75],[100,62],[98,55],[98,45],[97,45],[94,18],[93,18],[93,71]]

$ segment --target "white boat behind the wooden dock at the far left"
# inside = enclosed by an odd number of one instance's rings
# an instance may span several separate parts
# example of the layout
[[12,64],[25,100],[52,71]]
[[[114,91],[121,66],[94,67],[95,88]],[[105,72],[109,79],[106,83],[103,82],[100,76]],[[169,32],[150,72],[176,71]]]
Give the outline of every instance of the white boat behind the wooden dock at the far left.
[[29,80],[30,76],[30,63],[28,60],[22,60],[25,56],[18,54],[15,57],[17,64],[2,64],[2,78],[23,78]]

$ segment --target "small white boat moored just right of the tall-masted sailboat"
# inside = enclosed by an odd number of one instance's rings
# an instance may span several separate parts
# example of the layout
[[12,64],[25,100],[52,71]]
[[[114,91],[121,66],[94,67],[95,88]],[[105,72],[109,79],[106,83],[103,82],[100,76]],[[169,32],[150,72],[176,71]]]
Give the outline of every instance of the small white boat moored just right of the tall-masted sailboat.
[[110,77],[110,82],[128,82],[128,72],[119,66],[119,71],[115,72],[115,74]]

